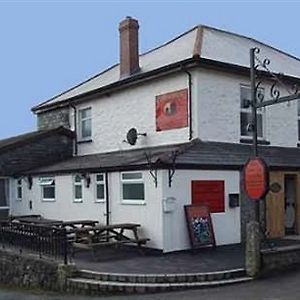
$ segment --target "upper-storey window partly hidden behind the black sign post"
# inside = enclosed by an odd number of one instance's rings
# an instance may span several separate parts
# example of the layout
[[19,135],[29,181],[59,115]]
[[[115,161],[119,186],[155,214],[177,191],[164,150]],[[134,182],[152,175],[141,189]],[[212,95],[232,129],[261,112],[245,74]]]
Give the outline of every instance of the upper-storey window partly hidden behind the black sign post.
[[[252,131],[249,129],[249,124],[252,123],[251,114],[251,89],[249,86],[241,86],[241,136],[252,137]],[[258,101],[264,96],[264,89],[260,88],[257,93]],[[264,116],[263,109],[257,110],[257,137],[263,139],[264,137]]]

